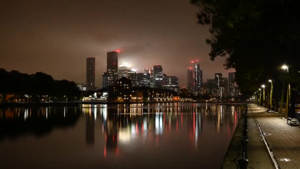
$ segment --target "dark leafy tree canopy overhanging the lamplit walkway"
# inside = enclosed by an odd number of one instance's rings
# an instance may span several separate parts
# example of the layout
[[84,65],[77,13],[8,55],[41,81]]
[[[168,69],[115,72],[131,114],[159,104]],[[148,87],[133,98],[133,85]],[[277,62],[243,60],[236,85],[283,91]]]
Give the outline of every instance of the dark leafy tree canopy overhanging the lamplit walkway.
[[288,77],[295,97],[300,70],[300,13],[296,0],[190,2],[200,9],[199,23],[210,25],[212,37],[206,42],[211,46],[211,60],[227,57],[225,66],[236,70],[242,93],[251,95],[267,78],[275,79],[285,63],[292,70]]

